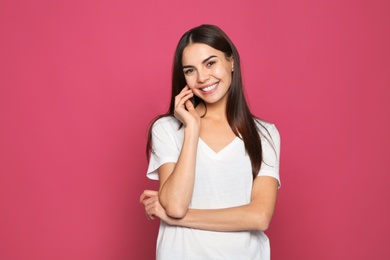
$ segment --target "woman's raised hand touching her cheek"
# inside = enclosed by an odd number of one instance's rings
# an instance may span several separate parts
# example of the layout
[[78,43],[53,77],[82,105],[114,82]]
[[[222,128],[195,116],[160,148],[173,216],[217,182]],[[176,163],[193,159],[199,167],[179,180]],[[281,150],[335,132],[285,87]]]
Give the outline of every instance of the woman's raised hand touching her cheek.
[[184,127],[193,126],[200,128],[200,116],[196,111],[191,98],[194,96],[192,90],[185,86],[179,95],[175,97],[175,117],[183,123]]

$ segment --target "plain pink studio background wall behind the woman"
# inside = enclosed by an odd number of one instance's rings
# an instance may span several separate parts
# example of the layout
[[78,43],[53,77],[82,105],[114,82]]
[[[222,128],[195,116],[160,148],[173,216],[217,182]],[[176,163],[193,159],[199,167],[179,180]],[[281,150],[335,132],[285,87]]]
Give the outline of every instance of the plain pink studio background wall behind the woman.
[[141,191],[189,28],[282,135],[273,260],[390,255],[389,1],[0,2],[0,259],[153,259]]

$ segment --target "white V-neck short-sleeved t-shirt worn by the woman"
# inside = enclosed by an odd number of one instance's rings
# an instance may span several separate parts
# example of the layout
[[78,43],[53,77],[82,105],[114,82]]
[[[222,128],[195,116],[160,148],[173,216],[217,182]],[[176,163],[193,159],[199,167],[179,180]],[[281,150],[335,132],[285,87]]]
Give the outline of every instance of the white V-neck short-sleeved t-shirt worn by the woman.
[[[256,120],[263,148],[258,176],[279,181],[279,132],[273,124]],[[176,163],[183,144],[184,128],[174,117],[157,120],[152,128],[152,150],[147,176],[158,180],[157,169]],[[190,203],[194,209],[218,209],[250,202],[252,167],[244,142],[236,137],[215,153],[199,139],[195,184]],[[221,216],[223,217],[223,216]],[[170,226],[161,221],[157,239],[157,260],[232,259],[269,260],[268,237],[262,231],[215,232]]]

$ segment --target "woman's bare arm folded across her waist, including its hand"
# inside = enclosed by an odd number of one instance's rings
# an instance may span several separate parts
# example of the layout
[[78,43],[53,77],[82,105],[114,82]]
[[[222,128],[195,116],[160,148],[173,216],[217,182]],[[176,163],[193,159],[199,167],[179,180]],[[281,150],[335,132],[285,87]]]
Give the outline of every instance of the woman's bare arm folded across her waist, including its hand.
[[149,219],[157,216],[169,225],[209,231],[264,231],[268,229],[274,213],[277,191],[278,181],[275,178],[259,176],[254,180],[250,203],[224,209],[189,209],[180,219],[166,214],[156,198],[157,192],[149,193],[150,196],[144,192],[141,202]]

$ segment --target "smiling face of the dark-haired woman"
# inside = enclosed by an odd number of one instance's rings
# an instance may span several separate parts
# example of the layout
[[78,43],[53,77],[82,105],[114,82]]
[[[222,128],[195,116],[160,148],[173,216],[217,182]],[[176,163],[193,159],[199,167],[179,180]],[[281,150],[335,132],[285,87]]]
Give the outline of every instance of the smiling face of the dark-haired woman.
[[232,83],[233,58],[207,44],[194,43],[183,51],[187,86],[206,103],[226,100]]

